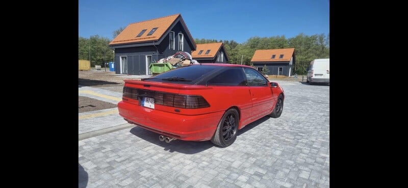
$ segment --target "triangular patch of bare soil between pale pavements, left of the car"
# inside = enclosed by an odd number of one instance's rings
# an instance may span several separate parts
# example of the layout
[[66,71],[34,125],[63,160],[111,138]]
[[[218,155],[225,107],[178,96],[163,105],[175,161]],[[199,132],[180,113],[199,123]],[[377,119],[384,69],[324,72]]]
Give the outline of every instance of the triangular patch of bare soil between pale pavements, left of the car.
[[117,104],[78,96],[78,113],[116,108]]

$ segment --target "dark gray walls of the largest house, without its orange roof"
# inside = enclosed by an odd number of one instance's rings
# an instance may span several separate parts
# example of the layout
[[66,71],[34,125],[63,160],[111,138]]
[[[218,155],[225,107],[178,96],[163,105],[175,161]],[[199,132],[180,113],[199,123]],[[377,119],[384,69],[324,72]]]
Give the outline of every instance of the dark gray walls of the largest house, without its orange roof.
[[[170,32],[174,32],[174,49],[170,49]],[[183,34],[183,49],[179,49],[179,33]],[[115,72],[117,74],[151,75],[148,66],[162,58],[174,55],[177,51],[191,54],[195,43],[185,27],[177,18],[169,30],[157,41],[111,45],[115,50]],[[149,63],[146,63],[147,61]]]

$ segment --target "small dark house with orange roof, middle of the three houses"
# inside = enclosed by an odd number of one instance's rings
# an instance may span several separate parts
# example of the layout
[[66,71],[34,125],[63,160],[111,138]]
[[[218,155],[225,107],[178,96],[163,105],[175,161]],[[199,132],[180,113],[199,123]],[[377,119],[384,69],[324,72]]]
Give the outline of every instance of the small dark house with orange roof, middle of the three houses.
[[222,42],[197,44],[197,50],[191,52],[198,63],[226,63],[230,59]]

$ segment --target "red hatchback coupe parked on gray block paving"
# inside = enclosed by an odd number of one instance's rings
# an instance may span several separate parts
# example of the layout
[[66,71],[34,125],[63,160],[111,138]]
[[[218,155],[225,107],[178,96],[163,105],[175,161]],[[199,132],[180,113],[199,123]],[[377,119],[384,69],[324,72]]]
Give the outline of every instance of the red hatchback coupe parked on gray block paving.
[[124,82],[120,116],[167,143],[211,140],[227,147],[245,125],[281,116],[285,99],[281,86],[245,65],[190,65]]

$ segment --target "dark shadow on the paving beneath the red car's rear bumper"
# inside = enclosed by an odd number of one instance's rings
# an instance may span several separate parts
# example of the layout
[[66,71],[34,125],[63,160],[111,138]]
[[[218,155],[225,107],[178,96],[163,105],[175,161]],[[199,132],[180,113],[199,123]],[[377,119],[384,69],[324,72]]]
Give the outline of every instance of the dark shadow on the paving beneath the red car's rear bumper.
[[179,152],[184,154],[195,154],[201,151],[207,150],[215,145],[211,143],[211,141],[202,141],[202,142],[195,142],[195,141],[183,141],[183,140],[173,140],[170,143],[166,143],[164,141],[159,140],[159,133],[152,132],[146,130],[144,128],[140,128],[138,126],[133,127],[130,132],[152,144],[156,144],[158,146],[163,147],[165,151],[169,152]]

